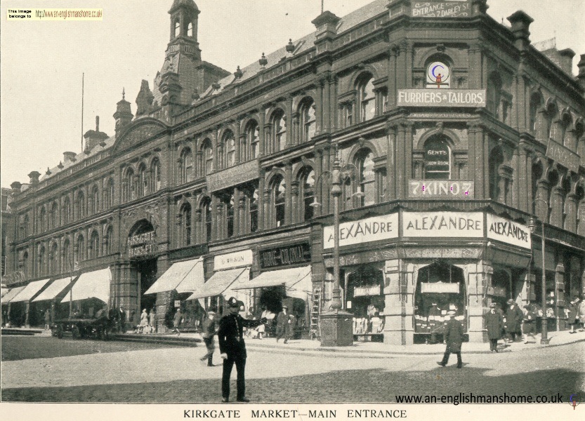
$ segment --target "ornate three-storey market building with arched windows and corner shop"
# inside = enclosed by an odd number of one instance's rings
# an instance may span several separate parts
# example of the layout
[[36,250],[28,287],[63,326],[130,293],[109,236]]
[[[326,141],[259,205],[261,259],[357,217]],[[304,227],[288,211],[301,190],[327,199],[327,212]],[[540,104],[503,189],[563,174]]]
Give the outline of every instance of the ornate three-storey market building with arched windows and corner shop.
[[572,51],[531,46],[525,13],[507,27],[485,0],[428,3],[443,13],[409,0],[326,11],[312,34],[230,73],[201,60],[199,9],[175,0],[136,116],[122,98],[114,135],[96,124],[83,152],[13,183],[11,285],[110,267],[108,304],[156,305],[162,325],[187,291],[145,292],[178,262],[228,286],[310,267],[309,326],[313,302],[323,312],[331,298],[338,158],[355,323],[372,332],[377,317],[384,342],[412,343],[438,302],[483,340],[490,302],[541,302],[536,215],[563,328],[567,298],[584,293],[585,57],[575,78]]

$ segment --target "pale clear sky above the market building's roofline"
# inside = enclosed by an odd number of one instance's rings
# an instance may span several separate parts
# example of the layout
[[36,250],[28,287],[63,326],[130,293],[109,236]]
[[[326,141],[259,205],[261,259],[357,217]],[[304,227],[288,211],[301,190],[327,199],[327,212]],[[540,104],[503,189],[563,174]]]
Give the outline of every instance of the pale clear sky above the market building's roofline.
[[[372,0],[324,0],[342,17]],[[315,30],[320,0],[196,0],[202,59],[234,72]],[[169,42],[172,0],[3,0],[0,4],[0,185],[28,182],[81,152],[82,134],[114,134],[122,89],[136,113],[140,81],[152,89]],[[498,22],[518,10],[534,18],[532,42],[585,53],[585,0],[488,0]],[[6,20],[8,8],[102,8],[101,21]],[[81,127],[81,79],[84,112]]]

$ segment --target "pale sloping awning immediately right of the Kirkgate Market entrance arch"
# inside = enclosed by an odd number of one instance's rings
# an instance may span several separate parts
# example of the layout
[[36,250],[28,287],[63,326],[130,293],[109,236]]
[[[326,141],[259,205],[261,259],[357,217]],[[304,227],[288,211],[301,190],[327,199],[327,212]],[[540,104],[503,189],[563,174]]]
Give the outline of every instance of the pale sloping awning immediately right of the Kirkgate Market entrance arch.
[[203,285],[203,258],[176,262],[148,288],[145,294],[164,293],[177,290],[178,293],[192,293]]

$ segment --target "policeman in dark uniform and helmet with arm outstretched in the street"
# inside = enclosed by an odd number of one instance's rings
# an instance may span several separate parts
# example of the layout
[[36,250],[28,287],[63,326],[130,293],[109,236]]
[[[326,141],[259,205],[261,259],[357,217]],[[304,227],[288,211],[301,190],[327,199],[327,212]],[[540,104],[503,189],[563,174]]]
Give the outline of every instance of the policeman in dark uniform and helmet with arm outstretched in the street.
[[219,322],[218,338],[219,352],[223,359],[223,374],[221,377],[221,401],[230,401],[230,375],[234,363],[237,370],[237,401],[249,402],[246,397],[246,345],[244,344],[244,327],[254,328],[266,323],[266,319],[247,320],[238,314],[240,303],[235,298],[228,300],[228,314]]

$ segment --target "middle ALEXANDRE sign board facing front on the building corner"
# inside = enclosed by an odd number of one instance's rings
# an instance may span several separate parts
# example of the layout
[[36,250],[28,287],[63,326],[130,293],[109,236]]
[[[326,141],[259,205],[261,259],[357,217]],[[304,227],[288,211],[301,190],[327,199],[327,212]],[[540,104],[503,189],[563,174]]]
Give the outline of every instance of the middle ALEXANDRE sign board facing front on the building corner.
[[481,212],[405,212],[402,213],[405,237],[482,237]]

